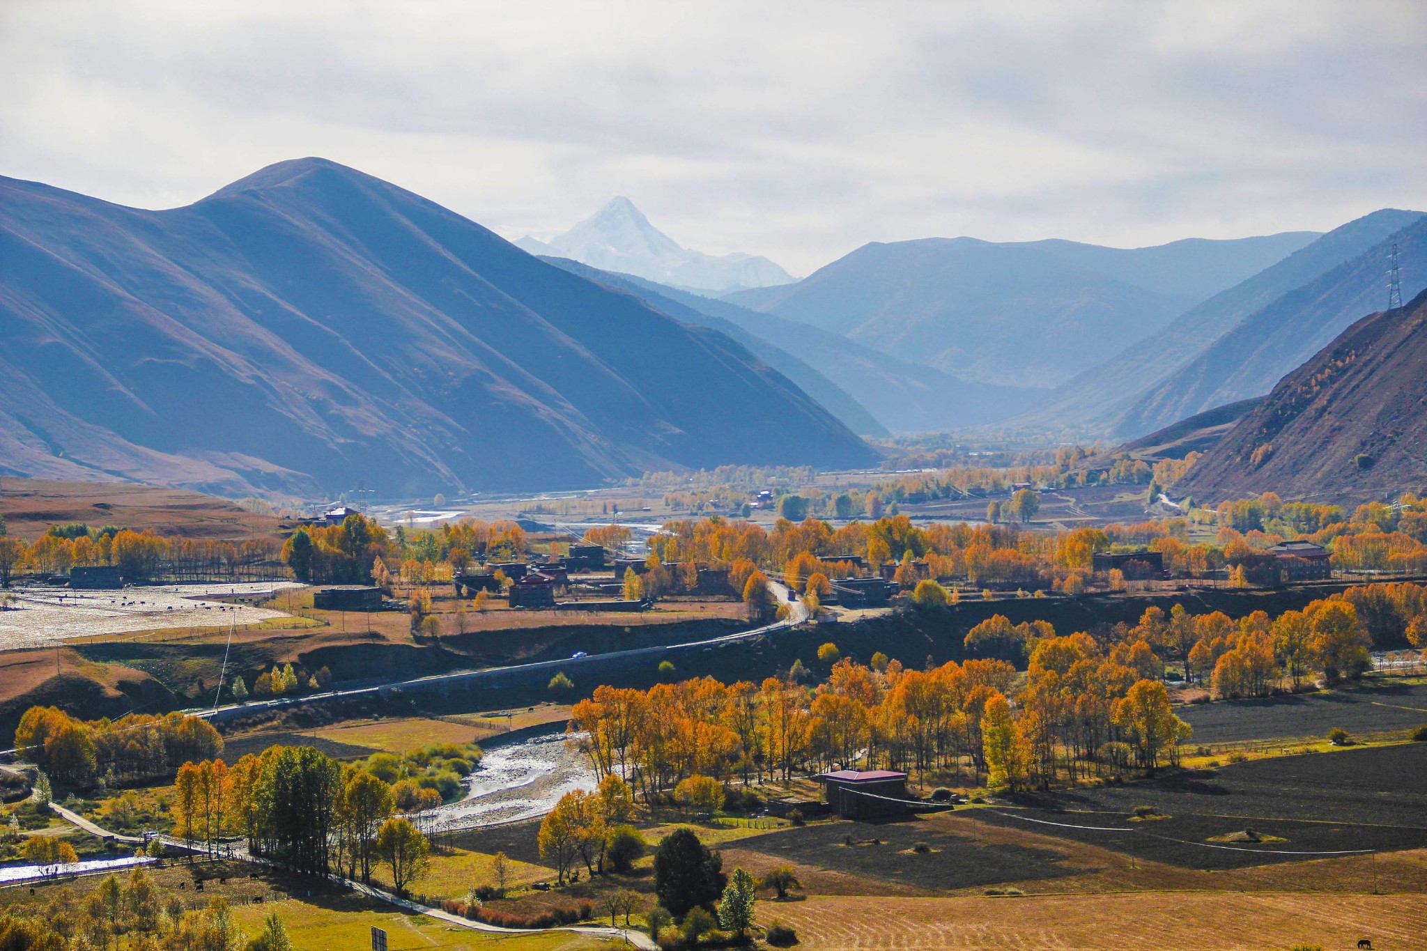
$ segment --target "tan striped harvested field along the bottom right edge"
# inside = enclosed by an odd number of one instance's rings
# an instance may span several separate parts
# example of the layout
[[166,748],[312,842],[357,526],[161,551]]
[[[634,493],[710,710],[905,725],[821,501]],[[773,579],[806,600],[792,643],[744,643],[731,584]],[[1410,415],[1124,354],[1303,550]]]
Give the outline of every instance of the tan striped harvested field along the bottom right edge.
[[1351,948],[1427,948],[1427,905],[1418,895],[1281,895],[1139,893],[1015,898],[811,897],[761,903],[759,921],[779,918],[803,951],[866,948],[1214,948],[1283,951],[1299,942]]

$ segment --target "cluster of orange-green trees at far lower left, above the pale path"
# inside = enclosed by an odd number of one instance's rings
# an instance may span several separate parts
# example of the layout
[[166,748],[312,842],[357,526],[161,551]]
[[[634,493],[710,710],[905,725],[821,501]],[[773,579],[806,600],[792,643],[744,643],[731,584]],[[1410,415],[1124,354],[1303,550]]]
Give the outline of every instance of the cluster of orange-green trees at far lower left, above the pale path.
[[90,786],[168,776],[178,764],[223,751],[207,720],[131,713],[118,720],[78,720],[59,707],[30,707],[14,731],[19,754],[54,780]]

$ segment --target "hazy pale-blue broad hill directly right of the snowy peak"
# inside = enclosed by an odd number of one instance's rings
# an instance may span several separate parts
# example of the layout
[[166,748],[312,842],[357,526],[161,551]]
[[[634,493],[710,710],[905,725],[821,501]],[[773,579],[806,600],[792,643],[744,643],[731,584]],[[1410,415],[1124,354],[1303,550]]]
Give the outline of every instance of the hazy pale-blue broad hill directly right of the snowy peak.
[[965,379],[1045,388],[1314,237],[1134,250],[975,238],[873,242],[798,284],[725,299]]

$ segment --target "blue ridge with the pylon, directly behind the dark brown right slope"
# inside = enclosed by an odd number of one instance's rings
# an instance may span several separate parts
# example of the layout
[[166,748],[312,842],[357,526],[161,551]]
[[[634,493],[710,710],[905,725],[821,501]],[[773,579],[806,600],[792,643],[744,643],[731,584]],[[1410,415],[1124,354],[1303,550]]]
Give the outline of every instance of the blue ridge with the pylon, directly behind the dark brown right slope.
[[1146,391],[1114,426],[1137,436],[1176,419],[1273,389],[1360,315],[1387,302],[1391,245],[1403,262],[1403,295],[1427,288],[1427,217],[1254,311],[1193,361]]

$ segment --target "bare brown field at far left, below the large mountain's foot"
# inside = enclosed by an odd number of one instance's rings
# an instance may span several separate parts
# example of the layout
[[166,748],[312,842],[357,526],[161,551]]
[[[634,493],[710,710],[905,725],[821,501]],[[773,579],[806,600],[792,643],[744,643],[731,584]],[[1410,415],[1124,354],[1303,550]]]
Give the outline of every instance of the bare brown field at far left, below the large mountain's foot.
[[273,516],[254,515],[210,495],[130,482],[0,479],[0,515],[10,535],[26,540],[40,538],[51,525],[71,522],[154,529],[210,542],[280,538],[280,522]]

